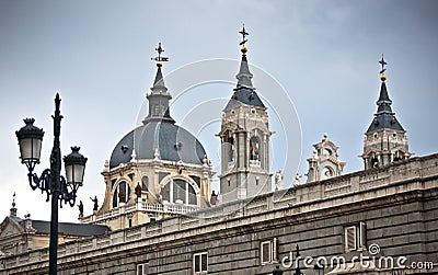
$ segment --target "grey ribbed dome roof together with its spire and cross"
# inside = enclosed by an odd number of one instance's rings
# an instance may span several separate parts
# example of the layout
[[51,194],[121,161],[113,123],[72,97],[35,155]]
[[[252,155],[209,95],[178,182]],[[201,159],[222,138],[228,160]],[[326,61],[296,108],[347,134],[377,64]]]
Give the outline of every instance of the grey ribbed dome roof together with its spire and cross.
[[206,151],[199,140],[189,131],[175,125],[170,115],[169,101],[172,95],[164,84],[161,71],[164,51],[161,43],[155,49],[157,75],[153,87],[147,93],[149,113],[142,125],[129,131],[114,148],[110,159],[110,168],[137,160],[183,161],[187,164],[203,164]]

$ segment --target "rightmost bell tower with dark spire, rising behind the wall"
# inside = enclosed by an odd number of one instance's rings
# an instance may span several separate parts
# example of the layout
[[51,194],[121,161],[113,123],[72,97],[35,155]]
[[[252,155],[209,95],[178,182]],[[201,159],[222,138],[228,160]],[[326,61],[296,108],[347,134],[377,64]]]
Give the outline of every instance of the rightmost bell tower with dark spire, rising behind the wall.
[[364,159],[365,169],[382,167],[397,160],[408,159],[413,153],[408,150],[406,131],[395,118],[392,112],[392,101],[387,90],[387,77],[384,71],[388,65],[382,56],[379,61],[380,70],[380,95],[377,101],[378,110],[367,133],[365,133]]

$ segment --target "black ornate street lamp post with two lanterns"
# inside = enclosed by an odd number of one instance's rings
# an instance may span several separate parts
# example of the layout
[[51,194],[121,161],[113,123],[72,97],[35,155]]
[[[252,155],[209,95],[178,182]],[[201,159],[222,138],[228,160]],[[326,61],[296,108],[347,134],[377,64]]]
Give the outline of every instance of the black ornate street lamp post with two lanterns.
[[79,147],[71,147],[72,152],[64,157],[66,169],[66,177],[61,172],[61,150],[59,147],[59,136],[61,128],[61,119],[59,105],[61,100],[59,94],[55,98],[55,115],[54,118],[54,147],[50,154],[50,168],[45,169],[41,176],[34,173],[35,165],[39,163],[41,149],[44,131],[34,126],[35,119],[26,118],[26,124],[20,130],[15,131],[19,139],[21,162],[27,167],[28,183],[32,190],[39,188],[42,193],[46,192],[47,202],[51,195],[51,218],[50,218],[50,243],[49,243],[49,274],[57,273],[57,254],[58,254],[58,200],[60,207],[62,202],[74,206],[76,193],[82,186],[83,172],[85,169],[87,158],[79,153]]

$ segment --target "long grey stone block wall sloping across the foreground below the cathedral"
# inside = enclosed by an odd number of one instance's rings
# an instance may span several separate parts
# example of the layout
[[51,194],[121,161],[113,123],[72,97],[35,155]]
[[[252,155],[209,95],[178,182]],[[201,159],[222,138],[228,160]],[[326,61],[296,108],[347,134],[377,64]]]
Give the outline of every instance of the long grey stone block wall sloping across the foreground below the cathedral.
[[[208,274],[272,274],[296,244],[303,257],[324,256],[328,262],[360,255],[377,260],[403,256],[406,266],[433,262],[435,270],[422,271],[433,274],[438,272],[438,154],[223,204],[196,215],[61,244],[59,274],[136,274],[138,264],[148,264],[148,274],[194,274],[194,256],[203,252],[208,253]],[[346,228],[359,229],[360,222],[366,232],[364,248],[346,251]],[[262,242],[272,242],[277,252],[266,264],[262,263]],[[371,244],[378,244],[380,253],[371,254]],[[0,274],[45,274],[47,260],[48,250],[3,257]],[[291,274],[293,266],[281,270]],[[418,270],[400,272],[416,274]],[[313,274],[313,270],[303,273]]]

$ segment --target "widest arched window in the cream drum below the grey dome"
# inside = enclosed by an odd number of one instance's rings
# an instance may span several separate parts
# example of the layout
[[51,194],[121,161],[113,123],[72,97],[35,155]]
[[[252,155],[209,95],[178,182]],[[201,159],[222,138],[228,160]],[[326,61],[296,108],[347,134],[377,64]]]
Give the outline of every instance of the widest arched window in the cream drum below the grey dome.
[[161,188],[160,196],[163,202],[174,204],[197,205],[198,199],[195,188],[183,179],[173,179]]

